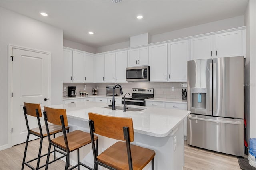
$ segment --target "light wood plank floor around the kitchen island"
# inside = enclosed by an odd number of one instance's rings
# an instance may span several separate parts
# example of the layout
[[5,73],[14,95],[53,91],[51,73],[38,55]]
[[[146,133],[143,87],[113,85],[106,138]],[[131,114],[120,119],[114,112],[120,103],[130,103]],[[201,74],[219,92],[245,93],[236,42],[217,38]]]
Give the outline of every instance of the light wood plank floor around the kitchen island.
[[[40,140],[30,141],[28,144],[27,159],[35,158],[38,154]],[[48,139],[44,138],[42,153],[48,150]],[[20,170],[22,165],[25,144],[19,144],[12,148],[0,151],[0,170]],[[51,157],[50,160],[53,158]],[[46,156],[40,159],[40,164],[45,164]],[[36,161],[31,163],[36,166]],[[65,163],[58,160],[49,165],[49,170],[63,170]],[[30,170],[24,166],[25,170]],[[44,168],[42,168],[44,169]],[[185,141],[185,166],[184,170],[240,170],[236,156],[211,152],[192,146]]]

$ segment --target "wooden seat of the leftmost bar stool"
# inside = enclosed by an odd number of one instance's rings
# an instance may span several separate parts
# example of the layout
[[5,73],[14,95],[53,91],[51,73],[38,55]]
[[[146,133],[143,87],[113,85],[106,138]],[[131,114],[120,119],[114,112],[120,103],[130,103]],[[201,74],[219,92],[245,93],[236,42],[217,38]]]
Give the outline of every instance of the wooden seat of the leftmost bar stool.
[[[47,136],[46,127],[45,127],[45,125],[43,125],[41,127],[42,127],[42,135],[43,135],[43,137],[46,137]],[[68,130],[69,127],[67,126],[67,127],[65,127],[65,129]],[[49,131],[50,131],[50,135],[56,134],[56,133],[62,132],[62,127],[60,125],[51,124],[51,125],[49,125]],[[32,128],[29,130],[29,132],[40,136],[39,127]]]

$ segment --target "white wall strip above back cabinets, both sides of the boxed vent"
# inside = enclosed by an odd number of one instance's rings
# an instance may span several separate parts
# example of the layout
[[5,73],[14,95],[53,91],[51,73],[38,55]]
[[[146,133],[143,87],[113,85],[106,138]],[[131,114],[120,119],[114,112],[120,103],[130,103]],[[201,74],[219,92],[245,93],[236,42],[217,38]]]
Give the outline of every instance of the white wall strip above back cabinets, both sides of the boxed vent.
[[[173,40],[176,38],[195,36],[198,34],[205,34],[209,32],[227,30],[227,29],[241,27],[241,26],[244,26],[244,16],[237,16],[237,17],[228,18],[225,20],[219,20],[215,22],[209,22],[206,24],[183,28],[180,30],[165,32],[162,34],[156,34],[151,36],[149,35],[148,43],[156,43],[156,42],[162,42],[167,40]],[[103,47],[98,47],[96,49],[96,53],[112,51],[112,50],[122,49],[122,48],[129,48],[129,47],[130,47],[129,41],[121,42],[121,43],[116,43],[116,44],[107,45]]]

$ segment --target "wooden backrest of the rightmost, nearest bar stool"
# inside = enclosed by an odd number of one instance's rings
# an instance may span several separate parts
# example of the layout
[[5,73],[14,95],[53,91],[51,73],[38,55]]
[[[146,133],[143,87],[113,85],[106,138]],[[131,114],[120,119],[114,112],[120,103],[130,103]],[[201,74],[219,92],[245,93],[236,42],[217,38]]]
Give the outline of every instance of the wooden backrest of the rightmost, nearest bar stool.
[[126,141],[123,127],[128,127],[130,142],[134,141],[132,118],[113,117],[90,112],[89,119],[94,123],[94,133],[96,134]]

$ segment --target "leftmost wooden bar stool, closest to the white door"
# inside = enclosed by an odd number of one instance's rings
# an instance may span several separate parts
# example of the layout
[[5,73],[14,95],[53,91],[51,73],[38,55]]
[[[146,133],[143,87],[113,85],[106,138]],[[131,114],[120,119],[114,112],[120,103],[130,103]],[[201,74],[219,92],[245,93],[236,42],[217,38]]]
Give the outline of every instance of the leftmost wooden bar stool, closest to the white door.
[[[42,150],[42,144],[43,144],[43,138],[47,136],[47,132],[46,132],[46,126],[43,125],[41,126],[40,123],[40,117],[42,117],[42,112],[41,112],[41,107],[40,104],[35,104],[35,103],[26,103],[24,102],[24,107],[23,107],[23,111],[24,111],[24,115],[25,115],[25,120],[26,120],[26,126],[28,129],[28,135],[27,135],[27,140],[26,140],[26,146],[25,146],[25,151],[24,151],[24,156],[23,156],[23,161],[22,161],[22,170],[24,169],[24,165],[28,166],[29,168],[33,169],[33,170],[38,170],[44,166],[46,166],[46,164],[39,166],[40,163],[40,158],[43,156],[46,156],[47,154],[44,154],[41,156],[41,150]],[[37,121],[38,121],[38,128],[29,128],[28,125],[28,116],[33,116],[33,117],[37,117]],[[69,127],[65,127],[65,130],[69,131]],[[55,138],[55,134],[62,132],[62,127],[59,125],[50,125],[49,126],[49,135],[54,135]],[[32,160],[29,161],[25,161],[26,159],[26,153],[27,153],[27,149],[28,149],[28,140],[29,140],[29,135],[33,134],[37,137],[40,137],[40,144],[39,144],[39,151],[38,151],[38,157],[34,158]],[[60,152],[58,150],[54,150],[51,151],[51,153],[54,152],[54,159],[55,159],[55,152]],[[63,152],[60,152],[63,154]],[[31,166],[29,164],[29,162],[32,162],[34,160],[37,160],[37,164],[36,164],[36,168],[34,168],[33,166]]]

